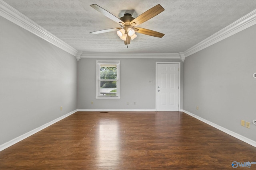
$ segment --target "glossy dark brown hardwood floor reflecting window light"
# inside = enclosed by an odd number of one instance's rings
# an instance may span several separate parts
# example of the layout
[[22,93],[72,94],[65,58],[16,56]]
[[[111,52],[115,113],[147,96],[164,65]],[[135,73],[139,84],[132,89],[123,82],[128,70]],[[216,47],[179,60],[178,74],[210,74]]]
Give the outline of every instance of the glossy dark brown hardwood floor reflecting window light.
[[78,111],[0,152],[1,170],[228,170],[233,161],[256,162],[256,148],[182,112]]

